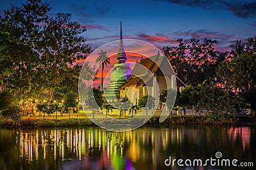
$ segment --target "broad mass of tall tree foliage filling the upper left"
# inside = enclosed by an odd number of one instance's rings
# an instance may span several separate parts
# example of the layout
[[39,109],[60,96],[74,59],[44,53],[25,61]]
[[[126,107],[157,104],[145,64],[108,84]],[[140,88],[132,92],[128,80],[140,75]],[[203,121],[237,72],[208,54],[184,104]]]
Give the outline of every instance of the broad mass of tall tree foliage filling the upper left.
[[0,87],[19,99],[60,100],[63,89],[77,87],[70,83],[78,80],[76,61],[90,52],[86,28],[71,14],[49,11],[49,4],[28,0],[0,16]]

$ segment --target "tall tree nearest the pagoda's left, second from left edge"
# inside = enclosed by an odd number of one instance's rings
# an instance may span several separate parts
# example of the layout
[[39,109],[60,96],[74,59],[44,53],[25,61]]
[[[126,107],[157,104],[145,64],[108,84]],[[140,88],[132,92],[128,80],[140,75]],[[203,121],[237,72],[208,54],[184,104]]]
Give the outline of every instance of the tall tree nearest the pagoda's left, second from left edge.
[[90,48],[81,36],[86,31],[85,27],[72,22],[70,14],[57,13],[45,22],[42,29],[40,73],[48,89],[48,99],[52,101],[62,81],[78,80],[79,72],[74,74],[77,69],[74,62],[85,59]]

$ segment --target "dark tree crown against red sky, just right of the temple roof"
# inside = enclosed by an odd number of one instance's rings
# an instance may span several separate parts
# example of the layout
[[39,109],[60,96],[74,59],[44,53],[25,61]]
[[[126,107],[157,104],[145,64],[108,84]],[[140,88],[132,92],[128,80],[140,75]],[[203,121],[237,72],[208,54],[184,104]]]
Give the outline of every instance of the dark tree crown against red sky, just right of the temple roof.
[[170,60],[174,71],[186,84],[198,85],[207,80],[207,83],[216,82],[216,69],[226,56],[214,48],[215,40],[192,38],[189,43],[183,39],[177,40],[178,46],[164,46],[163,52]]

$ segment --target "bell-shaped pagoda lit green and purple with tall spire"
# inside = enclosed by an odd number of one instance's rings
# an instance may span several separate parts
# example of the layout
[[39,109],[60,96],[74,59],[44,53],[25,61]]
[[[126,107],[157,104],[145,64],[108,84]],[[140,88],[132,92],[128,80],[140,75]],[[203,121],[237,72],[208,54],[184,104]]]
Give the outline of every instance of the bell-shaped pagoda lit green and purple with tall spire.
[[116,57],[117,64],[114,65],[114,69],[111,72],[108,89],[104,92],[105,97],[108,99],[115,99],[115,97],[120,97],[120,90],[117,89],[127,80],[127,78],[132,73],[130,64],[125,63],[126,60],[127,57],[123,44],[122,22],[120,22],[120,42]]

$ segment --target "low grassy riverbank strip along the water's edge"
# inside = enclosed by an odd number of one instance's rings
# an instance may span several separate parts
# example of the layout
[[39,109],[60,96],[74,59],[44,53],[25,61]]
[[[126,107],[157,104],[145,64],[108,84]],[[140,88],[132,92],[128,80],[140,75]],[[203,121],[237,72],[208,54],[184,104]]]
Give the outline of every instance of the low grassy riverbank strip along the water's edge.
[[[115,124],[110,118],[102,118],[102,121],[108,121],[109,124]],[[112,122],[111,122],[112,121]],[[256,120],[252,116],[237,116],[234,118],[212,118],[207,115],[198,116],[172,116],[166,118],[164,122],[159,122],[159,117],[152,117],[144,126],[168,126],[168,125],[189,125],[189,124],[233,124],[233,125],[256,125]],[[14,122],[8,118],[0,118],[0,127],[72,127],[72,126],[93,126],[93,122],[88,118],[60,118],[60,119],[42,119],[34,118],[28,120],[23,118]]]

